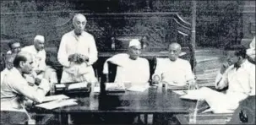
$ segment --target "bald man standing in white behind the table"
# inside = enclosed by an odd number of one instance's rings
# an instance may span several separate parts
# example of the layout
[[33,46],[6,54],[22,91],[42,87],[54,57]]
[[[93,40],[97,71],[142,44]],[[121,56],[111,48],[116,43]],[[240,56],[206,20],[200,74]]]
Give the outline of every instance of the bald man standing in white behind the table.
[[84,31],[86,22],[83,14],[74,15],[74,30],[62,37],[57,53],[57,60],[63,65],[61,83],[96,82],[92,64],[97,61],[98,52],[93,35]]

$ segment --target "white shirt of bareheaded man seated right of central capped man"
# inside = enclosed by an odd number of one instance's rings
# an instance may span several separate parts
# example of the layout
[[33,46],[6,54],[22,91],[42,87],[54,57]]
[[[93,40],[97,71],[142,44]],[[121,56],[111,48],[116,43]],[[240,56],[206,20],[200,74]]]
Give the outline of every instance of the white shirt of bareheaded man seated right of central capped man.
[[186,85],[188,80],[194,79],[190,63],[181,58],[177,58],[175,62],[172,62],[169,58],[156,58],[153,78],[155,75],[158,75],[161,81],[172,85]]

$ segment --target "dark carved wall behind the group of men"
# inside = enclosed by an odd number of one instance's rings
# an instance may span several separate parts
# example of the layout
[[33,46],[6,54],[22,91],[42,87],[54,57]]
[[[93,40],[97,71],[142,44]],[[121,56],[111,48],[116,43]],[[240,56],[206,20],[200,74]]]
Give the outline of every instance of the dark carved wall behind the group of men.
[[[145,35],[149,47],[166,49],[168,43],[179,42],[170,13],[191,23],[191,7],[188,0],[2,0],[1,52],[7,52],[8,41],[26,46],[40,34],[56,57],[76,13],[87,16],[86,30],[95,36],[100,52],[109,50],[111,37],[117,35]],[[198,1],[196,23],[197,48],[248,42],[255,35],[255,2]]]

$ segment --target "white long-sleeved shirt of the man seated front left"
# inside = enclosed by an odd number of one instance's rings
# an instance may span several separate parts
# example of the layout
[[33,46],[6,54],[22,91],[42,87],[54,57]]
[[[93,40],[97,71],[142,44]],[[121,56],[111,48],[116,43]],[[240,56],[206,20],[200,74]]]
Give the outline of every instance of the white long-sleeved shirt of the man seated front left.
[[1,85],[1,109],[22,109],[25,97],[41,102],[50,90],[49,84],[42,79],[39,86],[30,86],[17,68],[9,71]]

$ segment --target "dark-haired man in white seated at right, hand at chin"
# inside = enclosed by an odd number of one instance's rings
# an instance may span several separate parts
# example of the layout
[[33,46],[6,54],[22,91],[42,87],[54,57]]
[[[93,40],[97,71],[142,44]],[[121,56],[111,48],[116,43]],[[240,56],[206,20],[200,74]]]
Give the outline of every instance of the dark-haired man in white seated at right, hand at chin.
[[255,65],[246,59],[246,49],[243,46],[235,48],[236,51],[229,52],[228,62],[233,63],[216,80],[215,88],[221,90],[228,86],[226,93],[217,92],[203,87],[199,89],[204,93],[203,98],[214,112],[233,112],[248,95],[255,95]]

